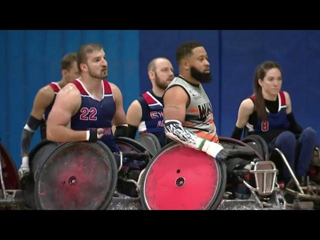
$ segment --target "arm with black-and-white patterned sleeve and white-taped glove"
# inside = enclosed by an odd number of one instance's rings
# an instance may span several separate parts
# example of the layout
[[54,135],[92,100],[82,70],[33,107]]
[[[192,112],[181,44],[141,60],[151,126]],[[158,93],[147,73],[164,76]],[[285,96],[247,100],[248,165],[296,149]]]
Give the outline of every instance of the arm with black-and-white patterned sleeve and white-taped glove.
[[172,86],[163,95],[163,119],[164,131],[167,137],[178,141],[189,147],[202,150],[216,159],[226,159],[227,152],[218,153],[223,149],[215,142],[197,137],[194,133],[187,131],[183,126],[185,119],[185,108],[188,103],[188,95],[180,86]]

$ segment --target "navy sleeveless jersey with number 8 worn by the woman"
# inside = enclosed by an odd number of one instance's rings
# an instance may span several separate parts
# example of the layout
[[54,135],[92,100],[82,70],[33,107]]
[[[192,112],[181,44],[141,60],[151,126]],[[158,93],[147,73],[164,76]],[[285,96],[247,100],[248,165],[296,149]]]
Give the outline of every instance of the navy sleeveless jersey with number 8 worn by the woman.
[[[254,95],[250,96],[250,98],[254,102]],[[259,134],[276,129],[288,129],[290,127],[290,122],[286,116],[286,102],[283,91],[279,91],[277,100],[277,112],[270,112],[268,108],[265,107],[267,121],[262,121],[262,119],[257,117],[257,120],[253,124],[250,124],[249,122],[246,124],[249,134]]]

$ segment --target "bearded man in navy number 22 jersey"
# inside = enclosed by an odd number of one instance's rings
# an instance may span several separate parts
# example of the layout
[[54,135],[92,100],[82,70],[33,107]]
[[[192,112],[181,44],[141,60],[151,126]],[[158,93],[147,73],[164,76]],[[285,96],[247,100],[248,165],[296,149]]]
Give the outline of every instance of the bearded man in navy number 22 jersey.
[[67,84],[56,96],[47,119],[47,138],[58,142],[101,140],[118,152],[115,136],[126,136],[127,124],[119,88],[105,80],[105,52],[100,44],[82,45],[77,52],[81,79]]

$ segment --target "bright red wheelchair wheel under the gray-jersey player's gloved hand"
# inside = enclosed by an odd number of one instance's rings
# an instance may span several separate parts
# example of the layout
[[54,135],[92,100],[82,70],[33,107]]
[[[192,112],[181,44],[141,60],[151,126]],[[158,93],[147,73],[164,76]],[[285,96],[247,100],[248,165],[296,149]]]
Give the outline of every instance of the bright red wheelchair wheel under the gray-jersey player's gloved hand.
[[172,142],[149,162],[141,181],[145,209],[215,209],[226,184],[226,166],[206,153]]

